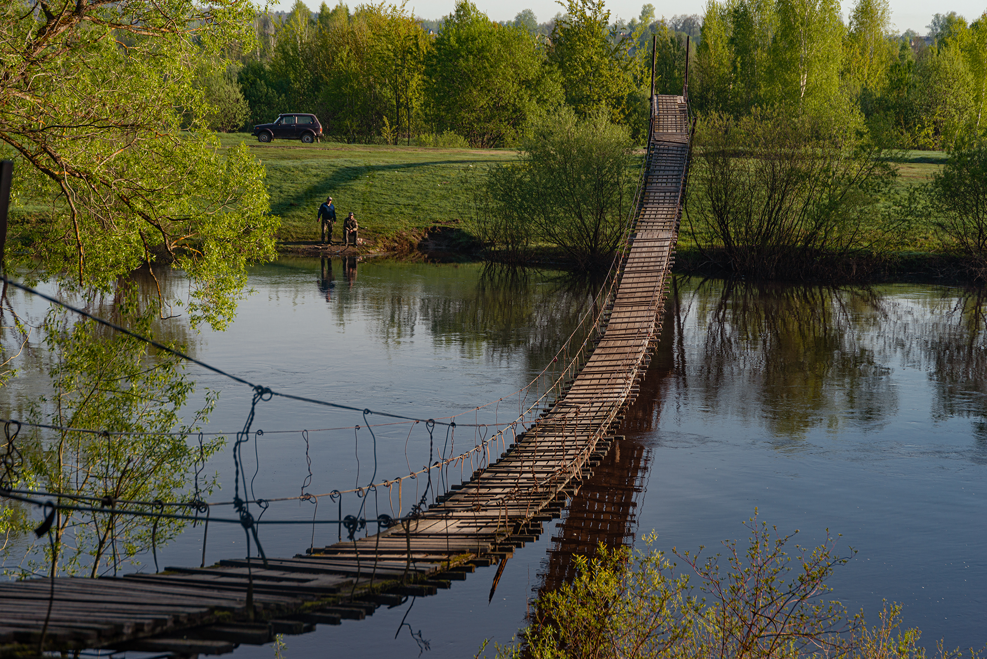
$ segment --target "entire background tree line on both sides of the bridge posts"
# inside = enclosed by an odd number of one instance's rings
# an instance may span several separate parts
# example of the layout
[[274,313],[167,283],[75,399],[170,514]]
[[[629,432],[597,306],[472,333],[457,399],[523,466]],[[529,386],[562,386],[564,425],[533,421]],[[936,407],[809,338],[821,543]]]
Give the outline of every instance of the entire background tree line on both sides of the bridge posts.
[[603,0],[565,8],[546,23],[531,10],[494,22],[460,0],[429,21],[404,5],[312,12],[298,0],[257,15],[256,46],[199,84],[224,131],[308,111],[342,141],[509,146],[534,117],[566,105],[581,116],[605,107],[641,140],[652,37],[656,91],[672,94],[692,37],[700,113],[840,108],[898,148],[947,148],[985,129],[987,12],[972,22],[936,14],[920,37],[892,32],[887,0],[859,0],[846,21],[836,0],[710,0],[703,16],[671,19],[645,4],[630,22],[611,22]]

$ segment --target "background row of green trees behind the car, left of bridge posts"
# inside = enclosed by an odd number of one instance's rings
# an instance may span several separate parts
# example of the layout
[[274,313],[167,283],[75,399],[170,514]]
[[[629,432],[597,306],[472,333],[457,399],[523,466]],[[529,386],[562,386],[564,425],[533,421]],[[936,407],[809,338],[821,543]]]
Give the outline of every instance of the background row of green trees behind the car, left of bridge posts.
[[[654,20],[651,5],[630,23],[611,24],[602,0],[569,0],[567,13],[538,24],[531,10],[491,21],[469,0],[439,22],[404,7],[302,3],[281,16],[258,15],[257,46],[226,73],[203,80],[216,109],[213,127],[250,129],[279,112],[317,114],[344,141],[493,147],[516,144],[536,115],[568,105],[597,106],[646,129],[649,49],[656,34],[681,87],[685,33],[698,17]],[[675,71],[662,78],[669,84]]]

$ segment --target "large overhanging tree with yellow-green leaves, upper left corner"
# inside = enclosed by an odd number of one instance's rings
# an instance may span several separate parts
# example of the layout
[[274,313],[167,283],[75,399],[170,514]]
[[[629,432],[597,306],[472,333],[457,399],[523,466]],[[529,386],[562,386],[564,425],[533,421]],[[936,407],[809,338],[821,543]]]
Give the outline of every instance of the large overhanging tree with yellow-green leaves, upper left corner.
[[[190,277],[196,317],[222,326],[246,263],[274,256],[260,163],[219,150],[195,87],[205,62],[252,47],[235,0],[56,0],[0,8],[0,143],[22,198],[50,203],[12,227],[15,264],[108,287],[158,255]],[[183,132],[188,129],[188,132]]]

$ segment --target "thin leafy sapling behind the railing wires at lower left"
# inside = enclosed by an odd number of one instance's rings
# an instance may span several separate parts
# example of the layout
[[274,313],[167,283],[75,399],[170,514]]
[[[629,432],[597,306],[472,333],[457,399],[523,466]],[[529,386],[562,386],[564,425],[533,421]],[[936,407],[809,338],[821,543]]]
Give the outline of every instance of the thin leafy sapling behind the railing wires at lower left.
[[[120,297],[118,321],[152,336],[157,309],[140,308],[132,292]],[[96,432],[25,428],[17,440],[24,458],[17,484],[97,498],[181,499],[191,470],[196,464],[204,465],[223,444],[222,439],[207,440],[201,448],[187,444],[188,436],[207,421],[216,395],[207,393],[205,406],[184,420],[179,411],[194,385],[182,373],[185,364],[180,358],[149,349],[136,338],[110,333],[92,321],[73,324],[59,310],[48,314],[41,333],[50,356],[51,393],[31,404],[29,420]],[[99,434],[102,431],[138,434],[105,436]],[[164,434],[174,431],[181,434]],[[213,482],[209,478],[200,481],[202,492],[210,491]],[[56,498],[64,504],[88,503]],[[155,509],[153,505],[121,507]],[[0,524],[7,525],[0,533],[27,535],[32,520],[8,518],[0,519]],[[98,576],[109,569],[115,573],[121,562],[135,561],[151,549],[152,535],[160,546],[184,526],[179,520],[155,523],[128,515],[60,511],[52,528],[54,565],[68,574]],[[35,549],[41,552],[29,552],[20,567],[23,576],[52,564],[47,539],[38,541]]]

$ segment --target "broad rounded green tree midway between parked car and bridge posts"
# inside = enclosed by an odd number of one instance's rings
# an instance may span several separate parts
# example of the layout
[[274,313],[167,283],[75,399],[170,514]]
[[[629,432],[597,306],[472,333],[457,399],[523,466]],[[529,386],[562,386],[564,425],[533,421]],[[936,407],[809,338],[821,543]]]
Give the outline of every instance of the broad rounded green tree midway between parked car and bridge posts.
[[424,71],[435,132],[454,130],[473,146],[515,140],[540,105],[561,101],[535,37],[493,23],[469,0],[445,17]]

